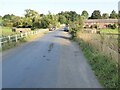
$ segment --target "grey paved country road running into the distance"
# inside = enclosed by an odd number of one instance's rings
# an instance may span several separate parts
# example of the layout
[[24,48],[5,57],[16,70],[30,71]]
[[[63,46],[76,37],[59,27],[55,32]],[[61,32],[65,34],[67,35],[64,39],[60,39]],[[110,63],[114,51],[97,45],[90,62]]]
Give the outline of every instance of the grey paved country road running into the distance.
[[3,88],[100,88],[79,47],[62,30],[2,55]]

